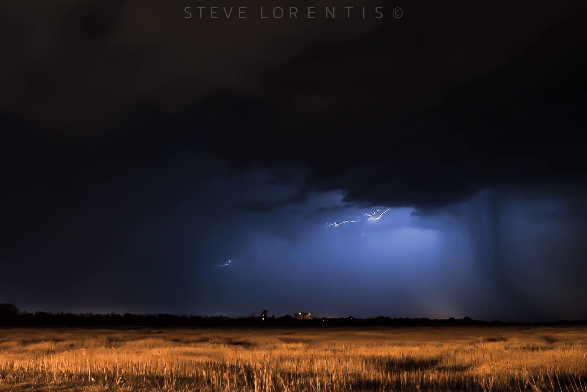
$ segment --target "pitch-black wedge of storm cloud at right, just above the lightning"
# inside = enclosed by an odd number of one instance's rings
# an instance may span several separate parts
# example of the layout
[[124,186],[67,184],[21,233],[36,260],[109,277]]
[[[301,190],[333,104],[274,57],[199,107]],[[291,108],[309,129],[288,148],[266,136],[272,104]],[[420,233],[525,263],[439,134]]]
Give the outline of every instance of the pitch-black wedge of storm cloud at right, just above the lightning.
[[548,26],[499,70],[414,117],[382,120],[371,132],[357,124],[356,139],[340,135],[347,142],[337,145],[332,166],[311,163],[318,169],[310,181],[348,189],[348,202],[419,208],[491,186],[584,185],[576,141],[585,124],[585,50],[569,43],[585,35],[582,23]]

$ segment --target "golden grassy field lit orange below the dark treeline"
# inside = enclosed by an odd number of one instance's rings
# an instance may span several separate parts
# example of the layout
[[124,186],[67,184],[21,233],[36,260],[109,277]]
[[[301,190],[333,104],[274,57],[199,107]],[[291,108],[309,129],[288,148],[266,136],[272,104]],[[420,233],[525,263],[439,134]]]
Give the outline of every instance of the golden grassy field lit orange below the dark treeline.
[[0,329],[0,391],[587,391],[587,329]]

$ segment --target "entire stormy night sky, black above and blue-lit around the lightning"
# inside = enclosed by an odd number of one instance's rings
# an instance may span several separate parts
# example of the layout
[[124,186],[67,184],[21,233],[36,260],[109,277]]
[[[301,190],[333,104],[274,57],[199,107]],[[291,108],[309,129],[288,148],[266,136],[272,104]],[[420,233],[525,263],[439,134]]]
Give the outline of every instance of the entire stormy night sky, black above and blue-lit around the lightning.
[[50,3],[0,5],[0,302],[587,319],[584,1]]

